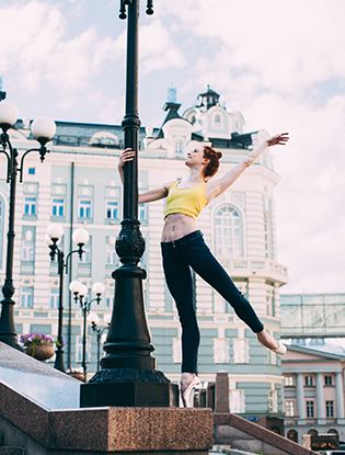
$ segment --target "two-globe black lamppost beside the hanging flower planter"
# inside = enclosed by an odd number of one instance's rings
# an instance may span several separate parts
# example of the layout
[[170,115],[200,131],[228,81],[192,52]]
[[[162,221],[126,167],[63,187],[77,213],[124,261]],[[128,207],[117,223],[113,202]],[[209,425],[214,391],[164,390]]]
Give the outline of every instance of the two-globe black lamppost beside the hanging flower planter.
[[78,244],[78,250],[69,252],[65,259],[65,253],[58,248],[58,243],[64,236],[64,228],[57,223],[51,223],[47,228],[46,234],[46,243],[50,248],[50,259],[54,261],[57,257],[58,262],[58,275],[59,275],[59,321],[58,321],[58,337],[57,337],[57,350],[55,353],[55,364],[54,367],[60,372],[66,372],[65,361],[64,361],[64,339],[62,339],[62,326],[64,326],[64,269],[68,273],[68,260],[73,253],[78,253],[79,258],[82,258],[84,250],[82,247],[89,240],[89,232],[87,229],[79,228],[76,229],[72,238],[73,241]]

